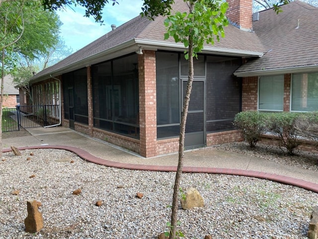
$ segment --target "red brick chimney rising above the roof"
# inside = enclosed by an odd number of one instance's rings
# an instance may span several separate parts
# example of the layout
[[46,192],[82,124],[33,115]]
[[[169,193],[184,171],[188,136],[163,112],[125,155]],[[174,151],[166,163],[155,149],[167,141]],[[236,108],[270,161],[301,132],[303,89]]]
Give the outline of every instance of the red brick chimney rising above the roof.
[[227,2],[229,3],[228,20],[241,30],[251,31],[253,0],[227,0]]

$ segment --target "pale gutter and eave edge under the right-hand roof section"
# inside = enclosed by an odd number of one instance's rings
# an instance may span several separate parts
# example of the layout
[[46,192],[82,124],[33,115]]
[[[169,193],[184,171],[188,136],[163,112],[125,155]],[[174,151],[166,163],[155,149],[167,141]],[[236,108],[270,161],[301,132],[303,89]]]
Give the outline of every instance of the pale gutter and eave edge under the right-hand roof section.
[[251,76],[270,76],[270,75],[282,75],[282,74],[293,74],[293,73],[311,73],[318,72],[318,65],[310,66],[294,66],[285,68],[274,68],[257,71],[243,71],[234,72],[237,77],[251,77]]

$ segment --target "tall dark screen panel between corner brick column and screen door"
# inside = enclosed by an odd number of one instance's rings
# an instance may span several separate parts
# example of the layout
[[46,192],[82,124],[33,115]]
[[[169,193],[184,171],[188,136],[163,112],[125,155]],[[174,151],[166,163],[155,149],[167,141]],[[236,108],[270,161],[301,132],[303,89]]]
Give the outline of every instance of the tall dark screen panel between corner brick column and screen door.
[[[179,123],[179,65],[177,53],[157,52],[157,125]],[[176,134],[178,135],[178,134]],[[159,136],[159,134],[158,134]]]

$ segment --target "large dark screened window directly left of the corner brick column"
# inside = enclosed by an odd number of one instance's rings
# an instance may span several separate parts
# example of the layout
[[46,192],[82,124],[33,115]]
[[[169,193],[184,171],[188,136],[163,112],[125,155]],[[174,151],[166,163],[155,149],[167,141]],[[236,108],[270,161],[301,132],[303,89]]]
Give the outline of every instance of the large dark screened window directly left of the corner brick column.
[[139,137],[137,54],[92,66],[94,127]]

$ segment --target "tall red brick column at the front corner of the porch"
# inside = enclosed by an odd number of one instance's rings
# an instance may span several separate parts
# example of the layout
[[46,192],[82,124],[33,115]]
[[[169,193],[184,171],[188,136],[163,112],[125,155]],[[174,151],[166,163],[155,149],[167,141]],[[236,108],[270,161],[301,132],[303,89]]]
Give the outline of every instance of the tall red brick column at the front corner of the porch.
[[140,154],[157,155],[156,52],[138,55]]

